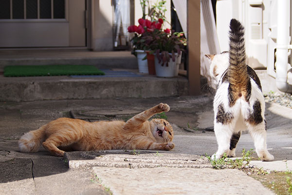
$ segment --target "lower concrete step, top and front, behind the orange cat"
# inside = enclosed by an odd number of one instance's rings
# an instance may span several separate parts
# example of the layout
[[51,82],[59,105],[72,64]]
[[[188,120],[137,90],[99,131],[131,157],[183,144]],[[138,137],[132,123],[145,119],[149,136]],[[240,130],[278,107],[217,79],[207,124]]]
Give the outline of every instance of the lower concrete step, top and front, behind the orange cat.
[[114,70],[106,76],[3,77],[0,101],[93,98],[159,98],[188,95],[185,77],[157,78],[138,70]]

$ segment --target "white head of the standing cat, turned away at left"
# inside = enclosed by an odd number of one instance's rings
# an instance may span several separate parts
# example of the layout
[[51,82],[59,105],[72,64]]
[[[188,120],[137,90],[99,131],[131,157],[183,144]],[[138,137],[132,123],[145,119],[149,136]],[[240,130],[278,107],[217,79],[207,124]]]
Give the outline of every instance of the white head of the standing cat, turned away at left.
[[209,73],[212,78],[218,81],[218,76],[220,76],[229,65],[229,52],[222,52],[216,55],[205,55],[211,61]]

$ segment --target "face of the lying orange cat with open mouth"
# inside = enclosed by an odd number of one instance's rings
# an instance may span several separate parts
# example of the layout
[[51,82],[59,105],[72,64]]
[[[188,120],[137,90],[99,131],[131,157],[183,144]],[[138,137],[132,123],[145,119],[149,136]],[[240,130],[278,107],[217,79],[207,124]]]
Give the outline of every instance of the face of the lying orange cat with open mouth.
[[152,122],[152,134],[156,138],[157,142],[164,143],[172,141],[173,129],[168,121],[160,118],[151,120]]

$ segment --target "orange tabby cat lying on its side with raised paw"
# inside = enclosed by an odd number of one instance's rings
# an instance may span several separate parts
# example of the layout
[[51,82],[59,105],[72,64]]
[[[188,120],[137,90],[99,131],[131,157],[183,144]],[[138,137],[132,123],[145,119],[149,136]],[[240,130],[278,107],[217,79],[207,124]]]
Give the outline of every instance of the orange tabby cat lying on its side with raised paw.
[[58,118],[25,133],[18,146],[21,152],[37,152],[42,144],[52,155],[63,156],[66,151],[114,149],[171,150],[173,130],[164,119],[148,119],[168,112],[160,103],[124,121],[86,122],[80,119]]

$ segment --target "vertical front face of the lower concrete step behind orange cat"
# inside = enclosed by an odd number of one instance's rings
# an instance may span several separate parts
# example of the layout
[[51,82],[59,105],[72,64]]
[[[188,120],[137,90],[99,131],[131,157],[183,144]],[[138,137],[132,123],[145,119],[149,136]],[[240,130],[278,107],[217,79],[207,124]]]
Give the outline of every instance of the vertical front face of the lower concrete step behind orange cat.
[[188,95],[187,79],[0,82],[0,101],[159,98]]

